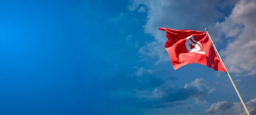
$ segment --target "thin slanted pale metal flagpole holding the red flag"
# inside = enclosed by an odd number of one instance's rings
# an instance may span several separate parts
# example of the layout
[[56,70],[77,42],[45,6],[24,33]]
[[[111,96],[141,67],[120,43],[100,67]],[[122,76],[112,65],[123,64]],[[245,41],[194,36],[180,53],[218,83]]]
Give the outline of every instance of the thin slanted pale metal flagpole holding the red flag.
[[234,82],[233,82],[233,80],[232,80],[232,78],[231,78],[229,72],[227,71],[227,68],[226,68],[224,62],[222,61],[222,59],[221,59],[221,57],[220,57],[220,54],[219,54],[218,50],[216,49],[216,47],[215,47],[213,41],[211,40],[211,36],[209,35],[207,29],[205,29],[205,31],[207,32],[207,35],[208,35],[208,37],[209,37],[209,40],[211,41],[211,43],[212,43],[212,45],[213,45],[213,48],[215,49],[215,51],[216,51],[218,57],[220,58],[221,64],[223,65],[223,67],[225,68],[225,70],[226,70],[226,72],[227,72],[227,75],[229,76],[229,80],[231,81],[232,85],[234,86],[234,88],[235,88],[235,90],[236,90],[236,94],[238,95],[238,97],[239,97],[241,103],[243,104],[243,107],[245,108],[245,111],[246,111],[247,115],[250,115],[250,113],[249,113],[249,111],[247,110],[247,108],[246,108],[246,106],[245,106],[245,103],[244,103],[244,101],[243,101],[243,99],[242,99],[240,93],[238,92],[238,90],[237,90],[237,88],[236,88],[236,85],[234,84]]

